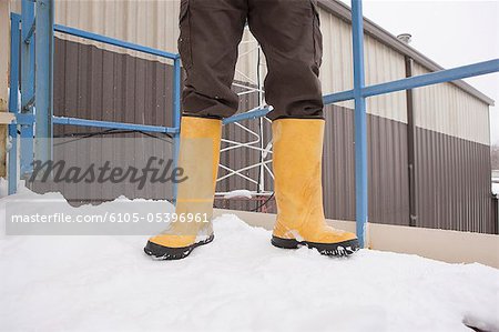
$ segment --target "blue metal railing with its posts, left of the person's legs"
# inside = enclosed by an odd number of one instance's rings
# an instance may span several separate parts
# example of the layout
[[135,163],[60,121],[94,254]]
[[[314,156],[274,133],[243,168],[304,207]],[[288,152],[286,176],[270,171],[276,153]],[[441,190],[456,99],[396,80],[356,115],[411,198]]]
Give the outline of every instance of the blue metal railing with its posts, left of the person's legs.
[[[51,0],[41,0],[43,9],[37,9],[37,17],[34,16],[34,2],[30,0],[22,0],[22,16],[11,14],[11,59],[19,59],[18,50],[21,49],[21,63],[19,61],[11,61],[11,87],[21,87],[21,112],[18,112],[18,97],[17,89],[10,91],[10,112],[16,114],[16,122],[9,127],[9,135],[12,138],[12,148],[9,153],[9,194],[17,191],[17,153],[18,150],[18,130],[21,137],[20,149],[20,169],[21,177],[30,173],[33,155],[44,155],[49,158],[51,147],[37,147],[35,142],[43,142],[51,144],[50,140],[33,140],[37,138],[51,138],[52,125],[78,125],[92,128],[106,128],[118,130],[135,130],[143,132],[160,132],[172,134],[174,138],[174,159],[179,154],[179,133],[180,133],[180,117],[181,117],[181,61],[180,56],[162,50],[152,49],[149,47],[100,36],[96,33],[53,24],[53,2]],[[42,18],[38,23],[37,19]],[[37,31],[35,31],[37,30]],[[50,30],[50,31],[49,31]],[[37,33],[34,33],[37,32]],[[115,47],[121,47],[138,52],[156,56],[173,60],[173,91],[172,91],[172,124],[173,127],[147,125],[138,123],[125,123],[114,121],[100,121],[91,119],[79,119],[68,117],[54,117],[52,112],[52,57],[53,57],[53,32],[71,34],[74,37],[84,38]],[[34,42],[33,42],[34,40]],[[39,51],[34,54],[34,44],[39,41],[37,47]],[[44,40],[44,41],[43,41]],[[52,42],[48,42],[48,40]],[[49,44],[49,46],[47,46]],[[24,49],[26,50],[24,50]],[[43,58],[41,58],[43,56]],[[45,63],[35,69],[34,62]],[[21,73],[19,68],[22,68]],[[35,71],[37,70],[37,74]],[[43,82],[44,84],[40,84]],[[49,82],[49,83],[48,83]],[[34,85],[40,85],[34,94]],[[33,114],[33,105],[37,104],[37,114]],[[37,123],[37,132],[34,132],[34,123]],[[34,143],[34,144],[33,144]],[[34,150],[33,150],[34,149]],[[176,197],[176,185],[173,187],[173,195]]]

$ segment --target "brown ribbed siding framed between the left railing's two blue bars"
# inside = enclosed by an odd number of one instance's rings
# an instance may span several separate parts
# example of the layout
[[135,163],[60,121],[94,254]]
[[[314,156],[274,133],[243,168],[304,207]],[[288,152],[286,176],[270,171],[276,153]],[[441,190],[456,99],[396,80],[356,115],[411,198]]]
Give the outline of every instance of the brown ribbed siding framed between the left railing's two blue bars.
[[172,72],[156,61],[55,39],[54,114],[171,125]]

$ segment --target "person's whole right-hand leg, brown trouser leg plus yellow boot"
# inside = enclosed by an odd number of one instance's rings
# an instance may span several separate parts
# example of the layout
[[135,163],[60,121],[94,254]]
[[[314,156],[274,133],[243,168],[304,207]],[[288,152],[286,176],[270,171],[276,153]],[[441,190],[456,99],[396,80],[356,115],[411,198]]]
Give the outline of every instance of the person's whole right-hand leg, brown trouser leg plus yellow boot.
[[322,155],[325,121],[318,72],[322,36],[316,0],[249,0],[249,29],[268,63],[265,97],[274,107],[273,169],[277,220],[272,243],[323,254],[358,249],[355,234],[326,224]]

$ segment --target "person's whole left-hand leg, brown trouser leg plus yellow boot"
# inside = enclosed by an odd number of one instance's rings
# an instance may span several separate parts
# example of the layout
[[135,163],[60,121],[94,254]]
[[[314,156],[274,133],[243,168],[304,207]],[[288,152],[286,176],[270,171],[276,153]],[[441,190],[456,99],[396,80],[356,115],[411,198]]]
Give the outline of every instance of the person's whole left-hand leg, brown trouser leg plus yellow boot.
[[247,0],[182,0],[179,50],[186,72],[182,98],[176,220],[149,240],[145,253],[183,259],[213,240],[211,219],[218,170],[222,120],[237,111],[231,90]]

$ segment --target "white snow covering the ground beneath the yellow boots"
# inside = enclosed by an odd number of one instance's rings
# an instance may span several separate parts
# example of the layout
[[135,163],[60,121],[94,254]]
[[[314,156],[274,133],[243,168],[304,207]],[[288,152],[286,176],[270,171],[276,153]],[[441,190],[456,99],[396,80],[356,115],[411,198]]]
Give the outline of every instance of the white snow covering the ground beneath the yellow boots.
[[[0,200],[2,224],[13,198]],[[496,269],[374,250],[349,259],[281,250],[268,231],[232,214],[214,229],[213,243],[181,261],[151,260],[143,235],[3,234],[1,330],[470,331],[466,321],[499,331]]]

